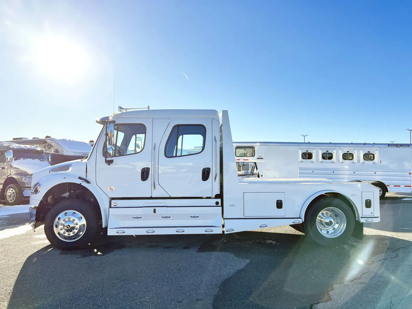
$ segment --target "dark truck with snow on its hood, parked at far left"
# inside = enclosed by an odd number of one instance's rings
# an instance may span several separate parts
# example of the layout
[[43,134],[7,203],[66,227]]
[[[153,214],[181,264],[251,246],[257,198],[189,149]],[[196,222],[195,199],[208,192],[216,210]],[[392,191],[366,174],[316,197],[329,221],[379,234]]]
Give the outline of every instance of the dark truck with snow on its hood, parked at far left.
[[28,200],[31,175],[48,166],[44,150],[39,147],[0,143],[0,200],[9,205]]

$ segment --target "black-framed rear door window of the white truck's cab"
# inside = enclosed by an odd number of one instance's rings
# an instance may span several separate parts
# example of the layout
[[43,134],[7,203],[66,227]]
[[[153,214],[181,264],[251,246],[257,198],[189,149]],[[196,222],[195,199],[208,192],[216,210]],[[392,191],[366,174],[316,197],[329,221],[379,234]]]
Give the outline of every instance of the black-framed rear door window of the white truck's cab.
[[167,158],[196,155],[204,150],[206,128],[201,124],[178,124],[166,142],[164,155]]

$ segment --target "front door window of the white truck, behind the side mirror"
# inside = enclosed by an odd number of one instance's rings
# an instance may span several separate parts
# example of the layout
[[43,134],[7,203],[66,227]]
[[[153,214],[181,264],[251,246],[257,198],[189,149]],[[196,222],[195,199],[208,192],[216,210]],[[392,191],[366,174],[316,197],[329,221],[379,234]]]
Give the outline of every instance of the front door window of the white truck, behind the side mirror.
[[145,146],[146,127],[144,124],[115,124],[115,155],[132,155]]

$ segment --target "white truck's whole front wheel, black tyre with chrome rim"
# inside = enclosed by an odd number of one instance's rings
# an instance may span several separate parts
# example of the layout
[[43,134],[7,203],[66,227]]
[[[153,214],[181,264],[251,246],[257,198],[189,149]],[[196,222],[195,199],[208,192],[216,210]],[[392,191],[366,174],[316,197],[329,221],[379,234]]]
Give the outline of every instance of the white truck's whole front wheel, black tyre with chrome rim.
[[56,204],[46,215],[44,233],[52,245],[61,250],[87,246],[98,230],[98,215],[80,199]]

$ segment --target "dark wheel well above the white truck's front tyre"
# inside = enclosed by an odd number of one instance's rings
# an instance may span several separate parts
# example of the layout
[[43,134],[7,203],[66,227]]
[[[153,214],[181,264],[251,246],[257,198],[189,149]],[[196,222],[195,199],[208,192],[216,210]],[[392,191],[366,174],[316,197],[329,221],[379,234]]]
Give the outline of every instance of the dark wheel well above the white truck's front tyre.
[[47,213],[53,206],[67,199],[81,199],[87,202],[96,211],[99,220],[102,220],[100,205],[89,189],[78,183],[59,183],[51,187],[40,201],[36,209],[35,226],[37,227],[41,222],[44,222]]

